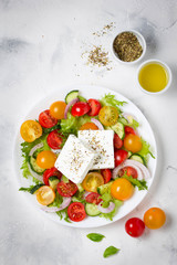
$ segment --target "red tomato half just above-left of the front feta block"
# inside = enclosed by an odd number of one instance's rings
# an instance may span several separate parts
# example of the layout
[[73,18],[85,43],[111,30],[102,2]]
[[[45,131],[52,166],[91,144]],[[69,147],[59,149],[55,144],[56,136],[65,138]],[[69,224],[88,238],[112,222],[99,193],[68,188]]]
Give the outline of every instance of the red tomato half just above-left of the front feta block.
[[48,145],[52,149],[61,149],[61,145],[63,142],[62,134],[59,134],[58,130],[52,130],[46,138]]

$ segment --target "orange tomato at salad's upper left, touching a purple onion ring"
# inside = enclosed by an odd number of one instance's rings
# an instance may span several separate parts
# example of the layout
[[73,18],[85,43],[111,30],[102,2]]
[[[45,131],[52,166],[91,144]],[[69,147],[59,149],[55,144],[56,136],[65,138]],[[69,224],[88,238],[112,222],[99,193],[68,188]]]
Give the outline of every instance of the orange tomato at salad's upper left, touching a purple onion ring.
[[50,115],[53,118],[62,119],[62,118],[64,118],[65,107],[66,107],[65,102],[54,102],[50,106]]

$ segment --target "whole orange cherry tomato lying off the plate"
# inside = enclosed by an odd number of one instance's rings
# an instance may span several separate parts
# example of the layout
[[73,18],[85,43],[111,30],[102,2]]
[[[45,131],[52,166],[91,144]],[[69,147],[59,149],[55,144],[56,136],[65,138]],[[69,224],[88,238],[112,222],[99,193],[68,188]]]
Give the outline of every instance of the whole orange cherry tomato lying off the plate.
[[166,222],[166,214],[159,208],[150,208],[144,214],[144,222],[148,229],[159,229]]

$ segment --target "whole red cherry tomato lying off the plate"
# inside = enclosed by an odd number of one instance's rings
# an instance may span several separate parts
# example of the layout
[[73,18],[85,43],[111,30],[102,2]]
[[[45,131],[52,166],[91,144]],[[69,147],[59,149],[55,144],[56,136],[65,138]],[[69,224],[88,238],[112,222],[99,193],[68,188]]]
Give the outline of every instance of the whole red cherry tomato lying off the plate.
[[125,231],[133,237],[140,236],[145,231],[144,222],[138,218],[132,218],[125,223]]

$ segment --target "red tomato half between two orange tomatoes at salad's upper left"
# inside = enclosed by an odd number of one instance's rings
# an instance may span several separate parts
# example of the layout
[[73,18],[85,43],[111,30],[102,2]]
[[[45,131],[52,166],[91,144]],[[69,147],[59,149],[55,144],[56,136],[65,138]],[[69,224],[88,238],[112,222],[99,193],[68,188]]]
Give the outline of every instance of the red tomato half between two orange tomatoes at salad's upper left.
[[39,123],[44,128],[51,128],[58,124],[58,119],[53,118],[50,110],[46,109],[39,115]]

